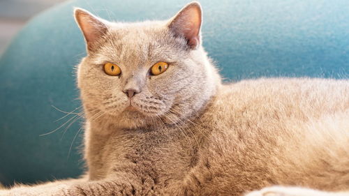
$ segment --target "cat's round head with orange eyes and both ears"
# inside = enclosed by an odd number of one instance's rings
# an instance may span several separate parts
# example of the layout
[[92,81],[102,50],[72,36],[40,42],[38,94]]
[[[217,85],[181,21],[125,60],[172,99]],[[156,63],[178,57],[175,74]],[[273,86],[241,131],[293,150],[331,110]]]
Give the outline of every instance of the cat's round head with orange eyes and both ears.
[[87,43],[77,83],[89,121],[120,128],[179,123],[221,82],[201,45],[197,2],[167,21],[108,22],[80,8],[75,20]]

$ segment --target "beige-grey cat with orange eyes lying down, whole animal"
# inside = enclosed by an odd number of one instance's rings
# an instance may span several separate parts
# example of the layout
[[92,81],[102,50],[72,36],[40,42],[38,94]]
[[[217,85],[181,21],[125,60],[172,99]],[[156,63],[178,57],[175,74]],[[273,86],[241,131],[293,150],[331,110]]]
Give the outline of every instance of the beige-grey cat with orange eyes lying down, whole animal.
[[349,195],[349,81],[223,84],[202,9],[108,22],[81,8],[87,174],[0,195]]

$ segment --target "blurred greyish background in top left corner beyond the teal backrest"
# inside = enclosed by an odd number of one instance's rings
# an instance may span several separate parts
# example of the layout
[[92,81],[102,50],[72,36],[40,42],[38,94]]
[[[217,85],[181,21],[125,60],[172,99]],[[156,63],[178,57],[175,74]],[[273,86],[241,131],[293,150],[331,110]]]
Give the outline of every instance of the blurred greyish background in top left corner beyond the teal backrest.
[[63,1],[66,0],[0,0],[0,56],[31,17]]

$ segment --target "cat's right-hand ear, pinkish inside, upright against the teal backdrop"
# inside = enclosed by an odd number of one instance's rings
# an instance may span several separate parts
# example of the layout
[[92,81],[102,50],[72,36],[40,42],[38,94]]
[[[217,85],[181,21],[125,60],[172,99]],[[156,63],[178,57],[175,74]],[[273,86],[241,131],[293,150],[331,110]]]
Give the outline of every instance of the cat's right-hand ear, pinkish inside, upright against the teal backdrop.
[[188,46],[195,49],[200,45],[202,9],[200,3],[193,1],[184,6],[169,22],[168,27],[175,36],[186,38]]

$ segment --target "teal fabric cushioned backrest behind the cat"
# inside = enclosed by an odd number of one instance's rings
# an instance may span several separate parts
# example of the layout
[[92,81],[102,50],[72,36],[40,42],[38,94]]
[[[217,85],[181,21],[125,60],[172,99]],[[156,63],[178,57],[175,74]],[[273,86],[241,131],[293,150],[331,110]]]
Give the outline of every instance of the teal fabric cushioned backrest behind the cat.
[[[0,59],[1,183],[82,174],[82,121],[75,121],[75,114],[60,119],[66,114],[59,112],[80,106],[74,68],[85,47],[73,20],[74,6],[131,22],[167,19],[187,2],[68,1],[31,20]],[[349,1],[200,2],[204,46],[227,80],[348,78]]]

